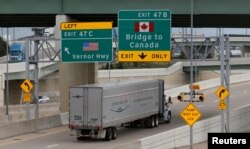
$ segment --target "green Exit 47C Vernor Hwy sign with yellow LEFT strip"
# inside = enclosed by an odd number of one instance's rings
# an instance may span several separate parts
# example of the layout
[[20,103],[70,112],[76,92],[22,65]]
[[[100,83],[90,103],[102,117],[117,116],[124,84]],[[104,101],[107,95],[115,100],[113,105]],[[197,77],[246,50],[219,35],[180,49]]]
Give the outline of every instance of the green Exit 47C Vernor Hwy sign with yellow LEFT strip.
[[64,22],[61,43],[62,62],[110,62],[112,22]]

